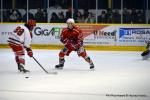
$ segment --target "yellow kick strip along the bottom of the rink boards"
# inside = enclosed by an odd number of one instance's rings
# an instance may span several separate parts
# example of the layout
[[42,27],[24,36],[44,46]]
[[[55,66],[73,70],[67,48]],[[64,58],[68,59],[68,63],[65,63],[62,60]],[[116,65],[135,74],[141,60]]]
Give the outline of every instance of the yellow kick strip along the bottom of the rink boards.
[[[63,45],[36,45],[32,44],[33,49],[49,49],[49,50],[60,50]],[[7,44],[1,44],[0,48],[9,48]],[[96,51],[144,51],[144,46],[85,46],[86,50]]]

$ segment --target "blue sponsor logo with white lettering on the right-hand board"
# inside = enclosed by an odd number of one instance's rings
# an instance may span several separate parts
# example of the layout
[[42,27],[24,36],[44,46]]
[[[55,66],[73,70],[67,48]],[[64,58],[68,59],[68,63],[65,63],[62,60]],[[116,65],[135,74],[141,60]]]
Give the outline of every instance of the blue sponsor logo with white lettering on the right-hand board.
[[142,35],[149,34],[150,28],[120,28],[119,29],[119,38],[131,35]]

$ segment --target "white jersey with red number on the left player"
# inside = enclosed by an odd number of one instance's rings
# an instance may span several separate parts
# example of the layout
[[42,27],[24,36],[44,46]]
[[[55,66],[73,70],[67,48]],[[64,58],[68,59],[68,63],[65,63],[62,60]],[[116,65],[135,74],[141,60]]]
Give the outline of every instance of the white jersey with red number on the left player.
[[16,27],[12,34],[9,35],[8,42],[14,45],[30,47],[31,35],[29,29],[24,25]]

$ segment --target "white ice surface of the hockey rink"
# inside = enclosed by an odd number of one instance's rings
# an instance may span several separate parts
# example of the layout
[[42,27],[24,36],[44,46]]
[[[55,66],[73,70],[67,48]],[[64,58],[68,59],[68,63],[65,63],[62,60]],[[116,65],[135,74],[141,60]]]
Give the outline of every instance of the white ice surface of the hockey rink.
[[[136,51],[87,51],[95,70],[76,52],[56,70],[59,50],[33,49],[34,57],[49,72],[26,56],[26,69],[17,71],[11,49],[0,49],[0,100],[150,100],[150,59]],[[25,78],[28,77],[28,78]]]

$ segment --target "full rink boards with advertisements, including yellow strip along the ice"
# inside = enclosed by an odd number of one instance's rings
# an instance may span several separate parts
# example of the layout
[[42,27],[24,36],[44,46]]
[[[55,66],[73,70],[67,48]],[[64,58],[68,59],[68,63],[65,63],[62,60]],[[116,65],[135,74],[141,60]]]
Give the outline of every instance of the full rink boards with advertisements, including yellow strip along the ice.
[[[7,47],[13,29],[22,23],[0,24],[0,48]],[[148,24],[77,24],[83,31],[84,45],[89,50],[141,51],[150,40]],[[32,46],[37,49],[60,49],[59,36],[66,24],[38,23],[32,31]]]

